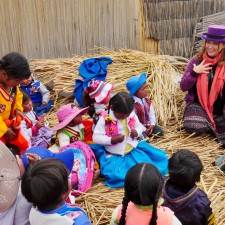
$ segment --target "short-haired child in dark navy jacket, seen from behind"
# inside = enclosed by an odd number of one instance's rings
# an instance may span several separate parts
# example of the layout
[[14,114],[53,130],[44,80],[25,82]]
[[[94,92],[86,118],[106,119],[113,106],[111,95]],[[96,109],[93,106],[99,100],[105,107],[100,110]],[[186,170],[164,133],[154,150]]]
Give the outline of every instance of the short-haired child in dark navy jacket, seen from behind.
[[169,159],[169,178],[163,187],[164,206],[174,211],[183,225],[217,224],[206,193],[196,186],[203,170],[199,157],[186,149]]

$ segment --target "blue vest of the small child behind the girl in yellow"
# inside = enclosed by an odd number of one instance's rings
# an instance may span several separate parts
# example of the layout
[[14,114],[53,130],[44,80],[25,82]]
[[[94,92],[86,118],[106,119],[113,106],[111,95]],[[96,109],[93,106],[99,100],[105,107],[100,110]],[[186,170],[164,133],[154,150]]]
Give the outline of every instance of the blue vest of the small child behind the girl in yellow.
[[30,96],[30,99],[33,103],[42,103],[42,95],[39,92],[41,82],[32,81],[29,85],[20,85],[20,90],[27,93]]

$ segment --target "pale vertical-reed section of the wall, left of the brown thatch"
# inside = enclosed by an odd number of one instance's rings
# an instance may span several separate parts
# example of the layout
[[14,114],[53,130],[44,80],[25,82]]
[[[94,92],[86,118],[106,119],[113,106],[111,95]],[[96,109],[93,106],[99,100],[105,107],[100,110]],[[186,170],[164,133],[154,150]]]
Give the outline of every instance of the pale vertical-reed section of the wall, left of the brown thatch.
[[157,42],[142,40],[140,1],[1,0],[0,55],[71,57],[94,46],[157,51]]

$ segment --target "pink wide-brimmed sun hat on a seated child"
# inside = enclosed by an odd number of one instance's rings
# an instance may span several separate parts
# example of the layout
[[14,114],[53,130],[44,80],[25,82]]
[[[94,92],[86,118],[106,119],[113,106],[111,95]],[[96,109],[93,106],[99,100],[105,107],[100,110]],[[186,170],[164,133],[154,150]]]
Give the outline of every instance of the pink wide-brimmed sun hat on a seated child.
[[61,130],[67,126],[77,115],[83,115],[88,111],[88,107],[78,109],[75,104],[67,104],[62,106],[57,112],[59,124],[57,124],[53,130]]

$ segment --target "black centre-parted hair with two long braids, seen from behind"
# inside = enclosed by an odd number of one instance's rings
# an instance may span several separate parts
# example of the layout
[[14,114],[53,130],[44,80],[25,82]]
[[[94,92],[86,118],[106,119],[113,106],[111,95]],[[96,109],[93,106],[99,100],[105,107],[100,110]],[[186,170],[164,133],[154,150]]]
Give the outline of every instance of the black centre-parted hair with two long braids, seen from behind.
[[126,224],[128,203],[149,206],[153,205],[150,225],[157,224],[157,206],[162,192],[163,179],[159,170],[150,163],[140,163],[132,167],[125,177],[125,196],[119,225]]

